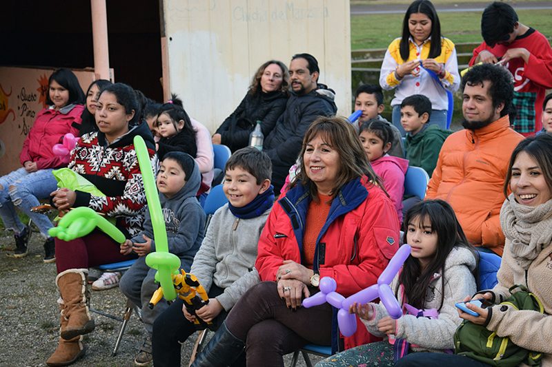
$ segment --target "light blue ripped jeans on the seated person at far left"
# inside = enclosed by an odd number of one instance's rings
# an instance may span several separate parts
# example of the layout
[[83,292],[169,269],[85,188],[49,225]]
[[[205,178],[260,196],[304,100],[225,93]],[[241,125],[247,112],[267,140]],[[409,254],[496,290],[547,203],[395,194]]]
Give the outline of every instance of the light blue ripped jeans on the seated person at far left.
[[[11,188],[10,188],[11,187]],[[37,225],[40,233],[48,237],[48,229],[52,228],[52,222],[48,216],[32,213],[30,209],[40,205],[39,199],[45,199],[57,189],[57,181],[52,175],[52,169],[39,169],[28,173],[23,167],[11,171],[0,178],[0,217],[6,229],[13,229],[15,233],[21,233],[25,224],[21,223],[15,208],[23,213]]]

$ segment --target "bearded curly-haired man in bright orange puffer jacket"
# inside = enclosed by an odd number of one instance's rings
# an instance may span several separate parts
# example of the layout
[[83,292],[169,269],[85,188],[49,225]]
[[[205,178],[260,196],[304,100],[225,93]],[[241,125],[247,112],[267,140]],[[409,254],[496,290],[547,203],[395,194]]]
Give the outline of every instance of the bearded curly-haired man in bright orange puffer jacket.
[[449,202],[468,239],[502,255],[502,187],[511,153],[523,140],[510,128],[512,76],[500,65],[477,65],[462,78],[462,90],[464,130],[445,140],[426,198]]

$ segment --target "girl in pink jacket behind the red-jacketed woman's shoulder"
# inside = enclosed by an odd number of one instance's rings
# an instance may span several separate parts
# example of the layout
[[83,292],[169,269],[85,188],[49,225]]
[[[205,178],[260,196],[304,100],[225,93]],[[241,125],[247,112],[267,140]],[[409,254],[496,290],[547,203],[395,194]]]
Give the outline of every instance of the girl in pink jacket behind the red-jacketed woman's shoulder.
[[359,138],[366,157],[373,170],[382,178],[384,189],[389,194],[397,216],[402,222],[402,196],[404,195],[404,175],[408,169],[408,160],[390,156],[393,131],[381,120],[373,118],[362,124],[359,129]]

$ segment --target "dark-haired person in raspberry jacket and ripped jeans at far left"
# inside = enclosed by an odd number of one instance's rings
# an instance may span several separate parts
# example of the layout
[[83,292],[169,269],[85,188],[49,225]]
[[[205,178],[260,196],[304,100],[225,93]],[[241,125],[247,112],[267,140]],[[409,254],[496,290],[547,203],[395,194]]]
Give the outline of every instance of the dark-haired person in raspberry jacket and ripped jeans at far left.
[[0,217],[4,227],[15,233],[14,258],[27,255],[30,228],[19,220],[16,208],[30,217],[46,238],[44,262],[55,262],[54,240],[48,237],[52,222],[40,213],[30,211],[39,205],[39,199],[48,198],[57,186],[52,169],[65,167],[61,157],[52,152],[52,147],[61,143],[63,135],[77,136],[83,112],[84,93],[77,76],[68,69],[59,69],[48,80],[49,105],[39,112],[23,143],[19,160],[23,167],[0,178]]

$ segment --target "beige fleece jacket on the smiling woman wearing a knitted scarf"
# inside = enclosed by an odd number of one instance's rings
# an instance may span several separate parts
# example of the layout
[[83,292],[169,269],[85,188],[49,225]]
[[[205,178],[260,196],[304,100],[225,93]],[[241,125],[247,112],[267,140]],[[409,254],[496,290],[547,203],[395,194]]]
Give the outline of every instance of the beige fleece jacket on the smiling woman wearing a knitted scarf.
[[[513,208],[513,222],[517,231],[510,231],[506,217],[513,196],[504,201],[500,211],[502,229],[506,234],[506,244],[502,255],[502,263],[498,271],[498,284],[493,289],[495,302],[500,303],[510,296],[509,288],[515,284],[526,286],[534,293],[542,306],[544,314],[535,311],[518,311],[512,306],[495,305],[489,308],[489,324],[486,326],[498,336],[507,336],[512,342],[536,352],[542,352],[542,366],[552,366],[552,200],[535,207],[543,213],[540,218],[522,219],[520,211]],[[514,204],[515,205],[515,204]],[[521,205],[517,205],[522,207]],[[522,246],[529,243],[522,240],[520,234],[526,233],[528,238],[538,237],[539,246],[529,267],[524,269],[520,261]],[[516,245],[517,243],[517,245]],[[520,246],[520,247],[517,247]]]

